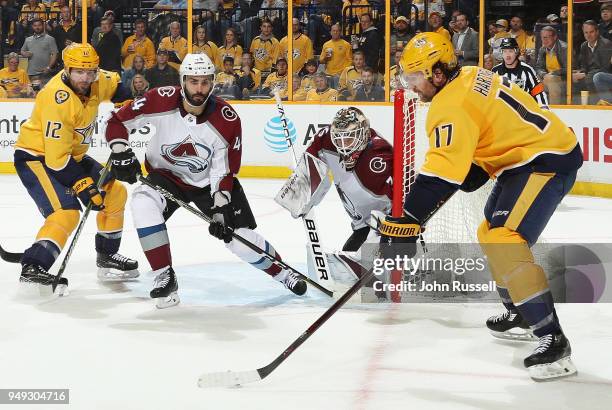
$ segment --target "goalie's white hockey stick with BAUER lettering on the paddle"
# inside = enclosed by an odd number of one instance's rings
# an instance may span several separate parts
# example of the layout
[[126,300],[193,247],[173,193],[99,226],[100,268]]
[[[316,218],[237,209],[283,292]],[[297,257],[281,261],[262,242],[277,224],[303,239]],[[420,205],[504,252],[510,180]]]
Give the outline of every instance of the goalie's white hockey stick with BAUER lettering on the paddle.
[[[278,110],[278,115],[280,116],[280,120],[283,125],[285,141],[287,142],[287,146],[291,149],[291,154],[293,156],[293,167],[295,168],[297,167],[298,159],[293,142],[291,141],[291,136],[289,135],[289,125],[287,124],[285,108],[283,107],[278,91],[274,93],[274,98],[276,99],[276,109]],[[318,273],[317,279],[319,282],[327,283],[328,287],[331,287],[330,285],[332,285],[332,278],[327,259],[321,251],[321,235],[317,229],[318,222],[313,209],[310,209],[306,215],[302,216],[302,223],[304,224],[304,229],[306,230],[306,241],[308,242],[308,249],[310,250],[308,257],[310,258],[313,269]]]

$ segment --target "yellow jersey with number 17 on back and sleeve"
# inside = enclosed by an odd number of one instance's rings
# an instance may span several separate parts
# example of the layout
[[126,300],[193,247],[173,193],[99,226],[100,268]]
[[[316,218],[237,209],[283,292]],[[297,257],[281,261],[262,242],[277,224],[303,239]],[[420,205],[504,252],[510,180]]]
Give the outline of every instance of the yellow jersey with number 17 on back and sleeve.
[[[532,163],[562,161],[578,141],[551,111],[491,71],[463,67],[434,96],[427,114],[429,150],[421,173],[461,184],[472,162],[490,176]],[[554,166],[551,166],[554,168]]]

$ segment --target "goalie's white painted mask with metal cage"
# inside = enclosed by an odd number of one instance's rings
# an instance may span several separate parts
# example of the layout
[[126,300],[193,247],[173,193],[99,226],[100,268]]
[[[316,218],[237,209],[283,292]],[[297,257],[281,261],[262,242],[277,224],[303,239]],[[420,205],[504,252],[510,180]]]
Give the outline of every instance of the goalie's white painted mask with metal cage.
[[370,121],[358,108],[343,108],[336,113],[330,134],[344,168],[351,170],[370,141]]

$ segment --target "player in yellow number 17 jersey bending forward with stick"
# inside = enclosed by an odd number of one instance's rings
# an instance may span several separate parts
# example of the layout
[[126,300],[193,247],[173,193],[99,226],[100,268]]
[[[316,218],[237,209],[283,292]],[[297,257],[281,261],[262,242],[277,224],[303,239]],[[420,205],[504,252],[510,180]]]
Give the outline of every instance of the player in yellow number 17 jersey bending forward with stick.
[[393,228],[418,230],[458,189],[471,192],[495,179],[477,233],[507,311],[487,320],[487,327],[498,337],[539,338],[524,360],[532,378],[574,374],[569,341],[530,247],[582,165],[575,135],[506,78],[458,67],[451,42],[436,33],[416,35],[399,69],[403,87],[431,102],[429,150],[404,199],[404,215],[382,224],[383,250],[416,241],[414,233],[392,236],[398,232]]

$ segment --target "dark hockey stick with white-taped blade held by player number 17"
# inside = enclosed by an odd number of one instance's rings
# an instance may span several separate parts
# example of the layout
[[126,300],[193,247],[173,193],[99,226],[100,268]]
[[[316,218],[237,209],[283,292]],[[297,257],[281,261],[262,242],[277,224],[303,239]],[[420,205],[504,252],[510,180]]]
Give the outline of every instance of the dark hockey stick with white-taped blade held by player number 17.
[[363,275],[353,286],[349,288],[325,313],[323,313],[315,322],[310,325],[297,339],[293,341],[276,359],[264,367],[256,370],[244,370],[241,372],[215,372],[205,373],[198,379],[199,387],[232,387],[240,386],[246,383],[257,382],[265,379],[272,373],[281,363],[283,363],[298,347],[302,345],[310,336],[314,334],[327,320],[332,317],[357,291],[374,276],[374,270],[369,270]]

